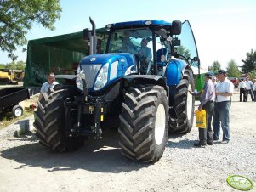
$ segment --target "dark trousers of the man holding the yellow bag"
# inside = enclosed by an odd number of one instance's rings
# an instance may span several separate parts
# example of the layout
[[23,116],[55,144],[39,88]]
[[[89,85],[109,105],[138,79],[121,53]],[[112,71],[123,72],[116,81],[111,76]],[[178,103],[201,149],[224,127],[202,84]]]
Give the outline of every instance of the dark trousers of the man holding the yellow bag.
[[212,129],[212,119],[213,119],[213,110],[214,103],[208,101],[206,104],[203,104],[202,109],[206,111],[206,128],[199,129],[199,143],[200,144],[213,144],[213,129]]

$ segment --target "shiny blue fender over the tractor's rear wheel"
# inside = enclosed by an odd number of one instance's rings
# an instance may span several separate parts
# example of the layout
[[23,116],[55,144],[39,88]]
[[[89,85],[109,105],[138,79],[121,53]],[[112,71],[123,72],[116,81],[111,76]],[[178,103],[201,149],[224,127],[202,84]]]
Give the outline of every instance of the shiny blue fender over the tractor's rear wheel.
[[188,64],[183,60],[172,59],[168,63],[168,68],[166,70],[167,85],[178,85],[187,66]]

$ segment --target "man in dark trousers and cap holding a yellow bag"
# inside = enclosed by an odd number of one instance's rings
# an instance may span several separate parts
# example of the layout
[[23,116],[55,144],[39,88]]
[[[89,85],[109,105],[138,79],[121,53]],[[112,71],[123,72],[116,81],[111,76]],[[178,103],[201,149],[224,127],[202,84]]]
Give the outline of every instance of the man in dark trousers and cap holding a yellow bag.
[[[199,142],[194,144],[196,147],[204,147],[206,144],[213,145],[213,129],[212,129],[212,119],[213,119],[213,109],[214,109],[214,99],[215,99],[215,88],[212,81],[213,74],[206,73],[204,75],[204,87],[202,92],[202,98],[200,99],[200,104],[198,110],[206,110],[206,128],[198,128],[199,131]],[[189,91],[192,95],[197,95],[198,93],[193,93]]]

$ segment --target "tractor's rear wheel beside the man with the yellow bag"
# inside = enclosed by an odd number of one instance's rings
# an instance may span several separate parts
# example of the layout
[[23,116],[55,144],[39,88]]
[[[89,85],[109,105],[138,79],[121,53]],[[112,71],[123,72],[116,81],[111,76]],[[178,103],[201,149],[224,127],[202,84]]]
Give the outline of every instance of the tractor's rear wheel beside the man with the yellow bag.
[[182,80],[175,89],[174,109],[176,110],[177,125],[169,123],[168,133],[190,133],[194,121],[195,98],[188,93],[195,90],[194,78],[191,70],[185,70]]

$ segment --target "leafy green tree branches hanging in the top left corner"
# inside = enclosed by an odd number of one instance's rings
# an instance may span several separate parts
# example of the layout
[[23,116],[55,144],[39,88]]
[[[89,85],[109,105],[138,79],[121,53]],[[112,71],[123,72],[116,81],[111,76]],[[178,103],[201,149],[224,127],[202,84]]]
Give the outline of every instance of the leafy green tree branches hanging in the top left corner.
[[60,0],[0,0],[0,47],[15,60],[17,46],[26,44],[26,34],[32,23],[54,30],[54,22],[60,19]]

